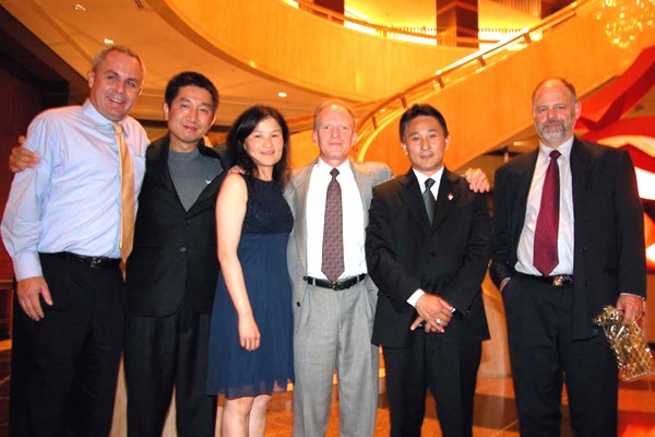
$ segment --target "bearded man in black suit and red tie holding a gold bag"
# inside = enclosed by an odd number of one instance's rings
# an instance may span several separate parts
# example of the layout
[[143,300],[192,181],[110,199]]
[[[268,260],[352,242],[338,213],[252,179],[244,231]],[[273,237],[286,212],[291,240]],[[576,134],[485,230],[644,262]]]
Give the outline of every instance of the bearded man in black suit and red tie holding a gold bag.
[[581,104],[565,80],[541,82],[532,104],[540,144],[496,174],[490,268],[505,305],[521,434],[559,435],[565,382],[574,434],[616,436],[617,366],[592,320],[616,305],[627,324],[645,308],[634,168],[628,152],[573,135]]

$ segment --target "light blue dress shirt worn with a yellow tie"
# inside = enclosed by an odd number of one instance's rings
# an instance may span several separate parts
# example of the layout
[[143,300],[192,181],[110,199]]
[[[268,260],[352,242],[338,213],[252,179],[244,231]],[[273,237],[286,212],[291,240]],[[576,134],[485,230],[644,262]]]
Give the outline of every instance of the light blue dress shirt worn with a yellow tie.
[[[135,199],[145,173],[145,130],[121,122],[134,166]],[[39,114],[27,130],[39,163],[14,176],[2,241],[19,281],[41,276],[38,252],[120,258],[120,164],[111,121],[86,101]]]

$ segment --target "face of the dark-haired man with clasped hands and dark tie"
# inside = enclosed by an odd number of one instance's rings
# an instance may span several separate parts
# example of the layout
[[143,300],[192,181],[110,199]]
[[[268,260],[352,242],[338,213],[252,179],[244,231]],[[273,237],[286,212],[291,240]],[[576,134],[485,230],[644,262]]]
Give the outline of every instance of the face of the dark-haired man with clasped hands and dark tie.
[[403,150],[412,167],[426,176],[432,176],[443,165],[443,155],[450,137],[434,117],[418,116],[405,128]]

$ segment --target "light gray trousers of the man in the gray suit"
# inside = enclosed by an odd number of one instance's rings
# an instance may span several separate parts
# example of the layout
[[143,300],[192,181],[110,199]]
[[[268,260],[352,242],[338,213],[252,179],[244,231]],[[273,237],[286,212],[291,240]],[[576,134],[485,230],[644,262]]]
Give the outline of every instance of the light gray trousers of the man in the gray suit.
[[294,436],[324,436],[336,368],[341,436],[370,437],[378,406],[374,299],[360,282],[334,292],[309,285],[295,326]]

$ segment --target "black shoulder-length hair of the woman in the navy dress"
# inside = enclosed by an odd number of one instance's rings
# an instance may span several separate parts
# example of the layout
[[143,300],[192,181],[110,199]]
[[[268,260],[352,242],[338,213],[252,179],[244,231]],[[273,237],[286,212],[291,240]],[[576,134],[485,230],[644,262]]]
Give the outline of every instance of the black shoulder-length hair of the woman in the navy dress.
[[254,175],[257,165],[246,151],[246,139],[254,131],[260,121],[269,117],[275,119],[282,128],[284,146],[282,149],[282,157],[273,166],[273,180],[284,187],[288,178],[289,128],[277,109],[263,105],[255,105],[246,109],[227,133],[227,150],[234,157],[235,165],[241,167],[247,174]]

